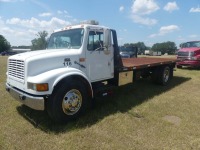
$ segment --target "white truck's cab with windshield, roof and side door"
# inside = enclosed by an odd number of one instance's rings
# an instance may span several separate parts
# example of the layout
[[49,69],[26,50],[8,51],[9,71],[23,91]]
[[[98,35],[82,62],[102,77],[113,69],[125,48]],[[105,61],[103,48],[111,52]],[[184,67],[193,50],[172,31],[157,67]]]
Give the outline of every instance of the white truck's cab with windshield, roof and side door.
[[[112,78],[113,47],[105,42],[111,42],[111,38],[105,37],[108,34],[109,29],[98,26],[97,22],[69,26],[51,35],[47,50],[64,49],[63,67],[81,70],[90,82]],[[70,53],[74,53],[76,58],[71,57]]]

